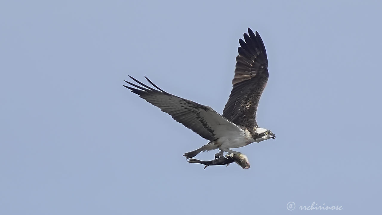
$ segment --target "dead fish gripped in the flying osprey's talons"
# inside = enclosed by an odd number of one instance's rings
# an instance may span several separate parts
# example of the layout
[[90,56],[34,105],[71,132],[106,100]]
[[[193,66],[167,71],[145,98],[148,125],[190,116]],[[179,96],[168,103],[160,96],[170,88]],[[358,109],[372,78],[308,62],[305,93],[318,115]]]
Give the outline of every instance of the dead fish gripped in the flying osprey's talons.
[[210,160],[210,161],[201,161],[201,160],[197,160],[197,159],[190,159],[187,161],[188,163],[201,163],[201,164],[204,164],[206,166],[204,166],[203,169],[206,169],[207,166],[218,166],[218,165],[229,165],[230,163],[237,163],[239,166],[241,166],[241,168],[243,169],[249,169],[249,161],[248,161],[248,157],[242,153],[238,153],[238,154],[233,154],[233,153],[230,153],[230,154],[227,154],[225,155],[225,157],[220,157],[220,158],[216,158],[214,160]]

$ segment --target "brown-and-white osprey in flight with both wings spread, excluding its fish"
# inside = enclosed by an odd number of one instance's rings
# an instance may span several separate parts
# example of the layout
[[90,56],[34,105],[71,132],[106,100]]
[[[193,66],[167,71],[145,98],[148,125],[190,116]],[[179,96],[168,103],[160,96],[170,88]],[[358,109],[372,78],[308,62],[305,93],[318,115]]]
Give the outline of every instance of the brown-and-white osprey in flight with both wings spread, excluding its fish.
[[175,121],[210,141],[197,150],[185,153],[183,156],[186,159],[196,156],[201,151],[214,149],[220,149],[215,158],[222,157],[224,151],[237,155],[239,152],[230,149],[276,138],[275,134],[259,127],[256,122],[257,105],[269,76],[264,43],[259,33],[253,33],[250,28],[248,34],[244,33],[244,40],[239,39],[239,43],[233,87],[222,115],[209,106],[163,91],[147,77],[146,80],[155,89],[131,76],[129,77],[139,85],[129,81],[126,83],[131,86],[123,85],[168,113]]

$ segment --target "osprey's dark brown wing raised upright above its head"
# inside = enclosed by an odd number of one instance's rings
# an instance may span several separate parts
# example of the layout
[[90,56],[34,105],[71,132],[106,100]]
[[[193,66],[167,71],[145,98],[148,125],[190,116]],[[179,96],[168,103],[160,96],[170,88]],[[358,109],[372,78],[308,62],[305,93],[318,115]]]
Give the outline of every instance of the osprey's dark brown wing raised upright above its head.
[[268,81],[268,59],[259,33],[248,28],[248,34],[244,33],[245,42],[239,39],[233,87],[223,117],[237,125],[257,126],[257,105]]

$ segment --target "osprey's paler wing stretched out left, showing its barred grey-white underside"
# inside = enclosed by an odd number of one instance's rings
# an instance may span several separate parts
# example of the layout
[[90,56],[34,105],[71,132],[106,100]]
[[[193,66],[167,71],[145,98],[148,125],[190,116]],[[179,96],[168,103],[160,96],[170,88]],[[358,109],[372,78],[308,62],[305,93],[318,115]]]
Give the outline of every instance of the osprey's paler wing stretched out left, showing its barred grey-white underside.
[[242,134],[242,132],[244,132],[240,127],[228,121],[208,106],[167,93],[146,77],[147,81],[157,88],[157,90],[141,83],[131,76],[129,77],[141,86],[129,81],[126,81],[126,83],[136,88],[123,86],[131,90],[131,92],[138,94],[139,97],[149,103],[157,106],[163,112],[170,114],[177,122],[180,122],[207,140],[213,141],[227,134]]

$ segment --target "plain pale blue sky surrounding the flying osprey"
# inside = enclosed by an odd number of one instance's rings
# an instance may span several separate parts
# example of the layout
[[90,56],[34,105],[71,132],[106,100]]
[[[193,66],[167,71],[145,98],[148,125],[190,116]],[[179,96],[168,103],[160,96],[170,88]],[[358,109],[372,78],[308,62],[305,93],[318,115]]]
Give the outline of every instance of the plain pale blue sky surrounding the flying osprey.
[[[378,1],[2,1],[0,214],[367,214],[381,200]],[[250,169],[122,85],[222,112],[238,39],[264,41]],[[217,151],[196,158],[211,160]],[[289,212],[288,202],[296,209]],[[342,211],[300,211],[300,205]]]

